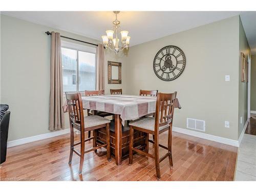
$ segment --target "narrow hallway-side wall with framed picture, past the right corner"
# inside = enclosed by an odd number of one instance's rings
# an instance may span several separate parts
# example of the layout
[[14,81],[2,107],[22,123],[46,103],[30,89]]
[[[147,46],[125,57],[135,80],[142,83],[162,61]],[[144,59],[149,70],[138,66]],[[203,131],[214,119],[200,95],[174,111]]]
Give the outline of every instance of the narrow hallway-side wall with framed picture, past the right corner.
[[[241,81],[241,52],[245,54],[246,60],[250,55],[250,47],[239,17],[239,112],[238,112],[238,136],[242,133],[247,120],[247,83]],[[242,117],[242,122],[241,122]]]

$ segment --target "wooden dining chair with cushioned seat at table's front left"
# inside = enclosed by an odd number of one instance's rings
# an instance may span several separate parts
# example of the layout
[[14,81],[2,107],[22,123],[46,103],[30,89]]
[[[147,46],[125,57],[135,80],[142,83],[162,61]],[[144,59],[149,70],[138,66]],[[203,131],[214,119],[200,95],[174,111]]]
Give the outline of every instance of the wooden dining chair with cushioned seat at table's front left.
[[[91,151],[95,151],[100,147],[106,146],[106,156],[110,161],[110,120],[97,116],[83,116],[83,107],[82,107],[82,99],[80,93],[68,93],[66,92],[66,98],[68,103],[68,111],[69,111],[69,122],[70,122],[70,156],[69,156],[69,164],[71,164],[73,152],[75,152],[80,157],[80,165],[78,174],[82,173],[83,167],[83,159],[84,154],[89,153]],[[97,130],[102,127],[106,129],[106,143],[102,145],[96,146],[96,137],[90,137],[88,139],[84,139],[84,132]],[[74,129],[80,131],[80,141],[74,143]],[[84,145],[86,141],[93,139],[93,147],[84,151]],[[74,146],[80,144],[80,152],[75,150]]]

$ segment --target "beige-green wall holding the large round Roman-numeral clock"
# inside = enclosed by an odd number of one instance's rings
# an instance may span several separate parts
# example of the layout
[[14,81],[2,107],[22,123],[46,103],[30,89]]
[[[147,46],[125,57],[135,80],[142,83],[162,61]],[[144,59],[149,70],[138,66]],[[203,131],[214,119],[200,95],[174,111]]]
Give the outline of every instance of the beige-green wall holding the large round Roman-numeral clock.
[[[186,118],[206,121],[210,135],[238,140],[239,16],[133,46],[127,58],[127,92],[140,89],[178,92],[182,105],[174,126],[186,129]],[[162,81],[153,71],[156,53],[167,45],[180,47],[186,67],[174,81]],[[225,75],[230,81],[225,81]],[[230,127],[224,127],[224,121]]]

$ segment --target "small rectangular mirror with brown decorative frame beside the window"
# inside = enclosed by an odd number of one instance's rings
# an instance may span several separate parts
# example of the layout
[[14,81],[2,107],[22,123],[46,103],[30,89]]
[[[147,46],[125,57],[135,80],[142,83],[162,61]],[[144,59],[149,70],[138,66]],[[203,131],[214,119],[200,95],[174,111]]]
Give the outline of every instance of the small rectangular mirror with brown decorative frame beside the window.
[[121,84],[121,62],[108,61],[108,83]]

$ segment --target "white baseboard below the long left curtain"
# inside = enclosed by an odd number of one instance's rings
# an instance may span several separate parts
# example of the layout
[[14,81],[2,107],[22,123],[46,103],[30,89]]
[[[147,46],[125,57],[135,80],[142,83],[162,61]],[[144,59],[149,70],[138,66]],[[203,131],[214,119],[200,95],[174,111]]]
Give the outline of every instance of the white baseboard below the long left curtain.
[[51,138],[51,137],[56,137],[56,136],[59,136],[59,135],[67,134],[69,132],[70,132],[70,129],[65,129],[65,130],[60,130],[60,131],[53,131],[53,132],[46,133],[46,134],[35,135],[35,136],[32,136],[32,137],[26,137],[26,138],[23,138],[23,139],[17,139],[17,140],[7,142],[7,147],[22,145],[22,144],[25,144],[25,143],[30,143],[30,142],[34,142],[34,141],[38,141],[38,140],[42,140],[42,139],[48,139],[48,138]]

